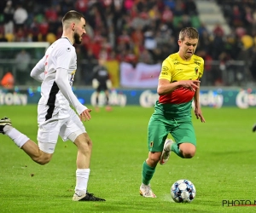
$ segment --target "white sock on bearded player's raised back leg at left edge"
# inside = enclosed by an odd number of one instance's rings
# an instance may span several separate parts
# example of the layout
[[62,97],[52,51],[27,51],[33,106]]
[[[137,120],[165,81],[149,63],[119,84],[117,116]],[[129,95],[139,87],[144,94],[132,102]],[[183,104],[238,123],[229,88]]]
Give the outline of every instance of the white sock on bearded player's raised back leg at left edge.
[[20,131],[16,130],[13,127],[10,127],[9,125],[6,125],[3,128],[3,131],[4,134],[8,135],[11,140],[15,141],[15,144],[20,148],[26,143],[26,141],[29,140],[26,135],[20,133]]

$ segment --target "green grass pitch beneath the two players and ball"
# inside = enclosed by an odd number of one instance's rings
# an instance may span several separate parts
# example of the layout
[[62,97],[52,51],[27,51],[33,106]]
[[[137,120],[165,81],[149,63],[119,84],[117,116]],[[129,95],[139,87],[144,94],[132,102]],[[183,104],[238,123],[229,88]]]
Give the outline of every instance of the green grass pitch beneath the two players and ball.
[[[139,196],[147,127],[153,108],[113,107],[91,112],[85,122],[93,141],[88,190],[107,202],[73,202],[76,147],[58,141],[51,162],[39,165],[7,136],[0,135],[0,212],[256,212],[256,206],[223,206],[223,200],[256,200],[255,109],[202,108],[207,123],[193,114],[197,152],[192,159],[172,153],[151,181],[157,199]],[[37,106],[0,106],[16,129],[37,138]],[[170,187],[186,178],[196,187],[190,204],[173,203]]]

